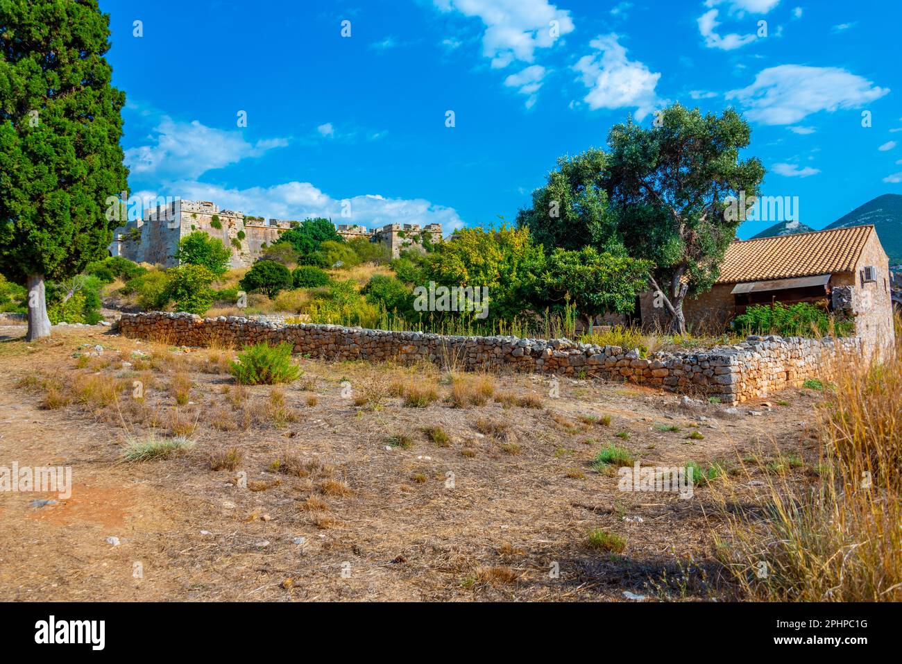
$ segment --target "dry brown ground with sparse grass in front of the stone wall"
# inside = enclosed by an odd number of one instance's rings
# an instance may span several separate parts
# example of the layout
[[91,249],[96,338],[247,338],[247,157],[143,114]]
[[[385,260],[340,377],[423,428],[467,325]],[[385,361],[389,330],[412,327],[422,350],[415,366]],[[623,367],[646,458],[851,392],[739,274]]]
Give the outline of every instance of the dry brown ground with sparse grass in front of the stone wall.
[[[715,556],[716,483],[690,500],[623,492],[594,458],[616,444],[642,466],[720,463],[750,501],[769,460],[798,457],[784,472],[799,482],[816,464],[805,390],[730,413],[628,383],[501,375],[507,404],[457,408],[432,367],[298,358],[298,381],[242,389],[230,350],[103,327],[23,334],[0,327],[0,466],[71,466],[74,486],[42,507],[57,496],[0,492],[0,600],[736,599]],[[404,405],[404,385],[439,400]],[[541,407],[511,403],[527,395]],[[436,426],[444,447],[424,432]],[[153,432],[196,444],[125,461],[125,441]],[[233,447],[234,469],[213,470]],[[625,548],[591,547],[595,529]]]

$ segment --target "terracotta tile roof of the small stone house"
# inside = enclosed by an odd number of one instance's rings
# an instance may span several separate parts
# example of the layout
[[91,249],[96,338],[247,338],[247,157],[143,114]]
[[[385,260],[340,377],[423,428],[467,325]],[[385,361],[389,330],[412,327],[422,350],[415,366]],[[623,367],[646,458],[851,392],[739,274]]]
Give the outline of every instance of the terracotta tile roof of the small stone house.
[[732,242],[717,283],[852,272],[874,226],[850,226]]

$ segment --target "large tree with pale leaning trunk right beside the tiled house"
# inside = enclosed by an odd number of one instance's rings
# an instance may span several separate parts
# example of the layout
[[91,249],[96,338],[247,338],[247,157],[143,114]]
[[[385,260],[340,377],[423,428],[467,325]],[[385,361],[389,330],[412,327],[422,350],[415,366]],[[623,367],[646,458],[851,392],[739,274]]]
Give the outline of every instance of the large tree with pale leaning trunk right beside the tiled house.
[[722,115],[668,106],[650,127],[632,120],[608,137],[605,189],[631,256],[655,263],[651,286],[673,332],[686,332],[683,302],[709,290],[745,220],[731,198],[758,195],[764,167],[741,160],[751,130],[735,111]]

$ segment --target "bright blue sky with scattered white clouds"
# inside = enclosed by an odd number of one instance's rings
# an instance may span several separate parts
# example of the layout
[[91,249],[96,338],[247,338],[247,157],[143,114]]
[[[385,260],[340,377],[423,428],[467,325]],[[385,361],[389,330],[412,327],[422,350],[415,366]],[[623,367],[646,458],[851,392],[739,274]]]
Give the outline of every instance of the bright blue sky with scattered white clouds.
[[902,193],[897,0],[100,5],[143,195],[364,226],[497,225],[557,157],[675,101],[744,113],[763,193],[798,197],[808,226]]

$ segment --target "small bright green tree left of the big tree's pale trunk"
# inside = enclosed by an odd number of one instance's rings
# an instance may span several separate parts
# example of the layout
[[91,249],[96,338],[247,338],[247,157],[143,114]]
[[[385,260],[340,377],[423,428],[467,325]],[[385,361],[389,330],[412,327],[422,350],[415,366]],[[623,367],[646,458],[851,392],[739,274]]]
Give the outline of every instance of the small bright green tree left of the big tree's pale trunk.
[[648,287],[651,267],[649,261],[599,253],[591,246],[557,249],[548,256],[539,283],[548,304],[573,303],[591,333],[596,316],[634,309],[636,296]]

